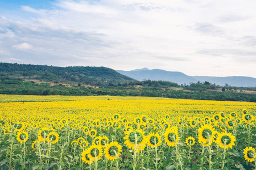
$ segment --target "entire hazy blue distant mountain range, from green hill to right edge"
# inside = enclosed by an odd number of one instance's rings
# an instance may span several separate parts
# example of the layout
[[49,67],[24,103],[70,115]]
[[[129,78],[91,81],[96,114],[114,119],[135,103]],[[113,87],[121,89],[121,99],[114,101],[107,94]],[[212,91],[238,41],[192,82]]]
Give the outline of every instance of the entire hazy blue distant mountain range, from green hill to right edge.
[[207,81],[220,86],[225,86],[225,84],[229,84],[230,86],[237,87],[256,87],[256,78],[248,76],[189,76],[178,71],[166,71],[160,69],[149,70],[147,68],[131,71],[117,70],[117,72],[139,81],[142,81],[144,79],[165,80],[177,84],[189,84],[196,83],[198,81]]

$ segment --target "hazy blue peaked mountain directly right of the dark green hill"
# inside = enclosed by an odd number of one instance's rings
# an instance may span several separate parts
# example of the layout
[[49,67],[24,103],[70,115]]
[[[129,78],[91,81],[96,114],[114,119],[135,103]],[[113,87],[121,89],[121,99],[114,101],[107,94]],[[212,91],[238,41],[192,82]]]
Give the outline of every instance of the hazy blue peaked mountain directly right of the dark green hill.
[[174,82],[177,84],[184,84],[184,83],[188,84],[190,82],[197,82],[197,79],[177,71],[166,71],[166,70],[159,70],[159,69],[148,70],[144,68],[144,69],[138,69],[137,71],[136,70],[131,70],[131,71],[117,70],[117,72],[139,81],[143,81],[144,79],[165,80],[165,81]]

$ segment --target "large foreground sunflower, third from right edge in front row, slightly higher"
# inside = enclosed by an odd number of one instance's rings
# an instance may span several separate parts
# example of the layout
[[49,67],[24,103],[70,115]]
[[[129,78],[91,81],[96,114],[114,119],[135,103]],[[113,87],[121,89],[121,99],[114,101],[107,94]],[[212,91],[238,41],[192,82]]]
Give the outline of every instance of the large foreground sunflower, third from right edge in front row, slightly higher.
[[[214,134],[217,133],[217,131],[213,129],[212,125],[201,126],[201,128],[199,128],[198,131],[199,131],[198,139],[201,145],[205,145],[205,143],[209,142],[209,139],[210,139],[210,142],[212,142]],[[208,145],[209,144],[210,143],[208,143]]]

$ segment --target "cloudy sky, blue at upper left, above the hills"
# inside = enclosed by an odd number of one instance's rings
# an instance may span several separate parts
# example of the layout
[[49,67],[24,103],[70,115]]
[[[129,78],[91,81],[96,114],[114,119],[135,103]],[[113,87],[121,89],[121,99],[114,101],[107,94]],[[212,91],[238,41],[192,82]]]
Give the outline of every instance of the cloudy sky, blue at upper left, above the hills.
[[256,78],[255,0],[0,0],[0,62]]

